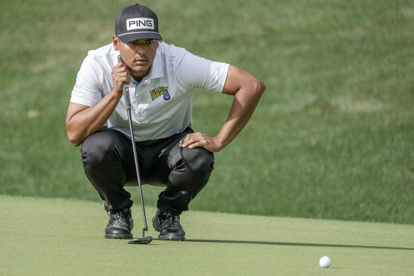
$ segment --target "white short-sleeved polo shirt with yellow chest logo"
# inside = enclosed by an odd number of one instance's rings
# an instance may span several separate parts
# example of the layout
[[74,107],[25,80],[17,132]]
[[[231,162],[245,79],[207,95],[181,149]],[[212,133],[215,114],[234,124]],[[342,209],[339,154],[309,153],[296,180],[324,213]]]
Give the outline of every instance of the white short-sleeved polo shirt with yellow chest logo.
[[[93,106],[112,91],[111,70],[119,51],[112,43],[88,52],[77,74],[72,103]],[[184,48],[159,43],[150,72],[129,85],[135,140],[170,137],[193,123],[195,88],[222,92],[229,65],[191,54]],[[124,96],[106,122],[130,137]]]

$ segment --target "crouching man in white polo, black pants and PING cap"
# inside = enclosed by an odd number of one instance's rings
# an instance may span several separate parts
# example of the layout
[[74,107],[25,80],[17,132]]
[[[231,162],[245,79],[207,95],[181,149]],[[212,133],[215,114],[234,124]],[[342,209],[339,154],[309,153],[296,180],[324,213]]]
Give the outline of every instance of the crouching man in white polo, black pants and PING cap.
[[[159,239],[184,240],[179,215],[207,184],[213,152],[244,128],[264,83],[226,63],[197,57],[161,41],[157,15],[146,6],[121,10],[112,43],[91,50],[77,75],[66,130],[81,145],[86,176],[110,219],[106,238],[132,238],[132,200],[124,186],[137,183],[122,84],[129,83],[141,179],[162,184],[152,219]],[[118,62],[121,55],[124,62]],[[191,129],[195,88],[233,95],[217,135]],[[212,107],[213,108],[213,107]]]

